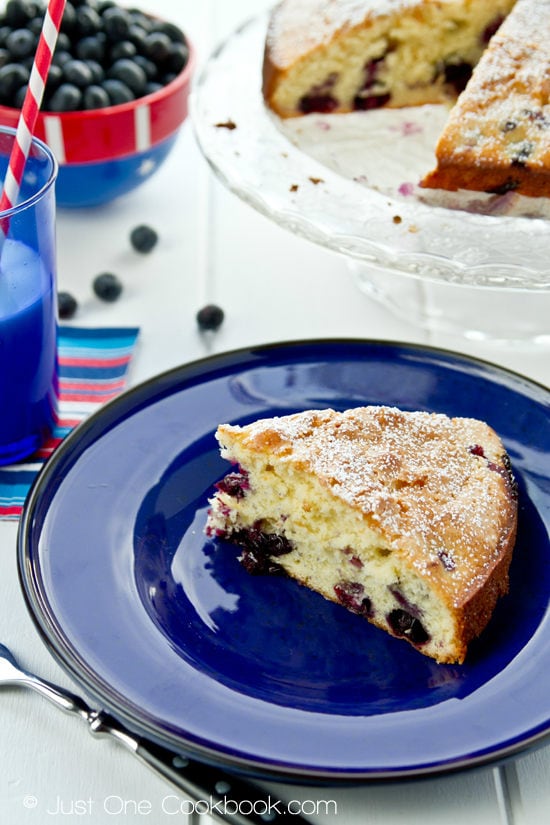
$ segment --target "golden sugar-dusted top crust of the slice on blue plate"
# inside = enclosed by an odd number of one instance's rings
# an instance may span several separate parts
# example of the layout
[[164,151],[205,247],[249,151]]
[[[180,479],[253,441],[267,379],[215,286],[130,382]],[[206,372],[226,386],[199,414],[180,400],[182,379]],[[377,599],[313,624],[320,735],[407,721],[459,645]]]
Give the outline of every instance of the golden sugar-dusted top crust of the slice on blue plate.
[[218,438],[314,474],[360,512],[453,611],[463,658],[508,590],[516,538],[513,478],[487,424],[360,407],[221,425]]

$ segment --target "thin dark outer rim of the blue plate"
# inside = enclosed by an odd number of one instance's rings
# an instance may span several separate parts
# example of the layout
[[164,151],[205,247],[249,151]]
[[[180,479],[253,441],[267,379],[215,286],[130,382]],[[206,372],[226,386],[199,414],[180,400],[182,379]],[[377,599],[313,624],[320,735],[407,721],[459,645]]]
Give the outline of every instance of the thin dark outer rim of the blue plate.
[[[422,363],[424,366],[433,362],[438,369],[454,369],[458,373],[470,375],[474,380],[481,376],[489,387],[494,385],[505,393],[518,392],[529,399],[529,403],[540,407],[548,417],[550,409],[550,391],[542,384],[527,379],[518,373],[492,364],[472,356],[467,356],[422,344],[407,344],[394,341],[379,341],[371,339],[310,339],[286,341],[274,344],[265,344],[255,347],[245,347],[229,352],[212,355],[197,361],[184,364],[175,369],[144,381],[127,390],[118,398],[108,402],[100,411],[91,415],[77,430],[73,431],[61,444],[54,456],[44,467],[35,481],[28,497],[18,531],[18,570],[21,587],[31,617],[46,642],[48,648],[68,672],[89,695],[93,696],[103,707],[106,707],[117,718],[131,729],[147,736],[152,740],[173,748],[177,752],[185,752],[213,764],[222,764],[235,771],[261,776],[271,779],[293,779],[300,781],[338,783],[341,781],[364,780],[394,780],[403,778],[426,777],[428,775],[445,774],[465,768],[472,768],[495,760],[503,760],[518,753],[523,753],[533,747],[543,745],[550,732],[550,707],[536,708],[533,713],[533,724],[524,724],[513,734],[508,734],[498,742],[483,743],[480,741],[471,752],[449,752],[449,755],[438,753],[437,756],[429,753],[414,759],[403,756],[401,764],[381,764],[365,762],[358,765],[331,764],[330,755],[324,762],[308,763],[307,760],[294,762],[292,759],[281,758],[280,754],[256,753],[250,748],[242,749],[238,743],[228,746],[220,744],[212,737],[201,737],[195,733],[188,733],[184,727],[174,729],[170,724],[163,724],[163,720],[152,717],[146,710],[123,695],[116,687],[105,682],[103,678],[82,659],[78,647],[66,637],[62,623],[60,624],[55,609],[45,592],[40,571],[40,558],[37,553],[36,537],[40,523],[47,516],[52,502],[55,502],[56,491],[66,473],[78,463],[79,458],[88,446],[101,439],[103,433],[108,432],[115,424],[131,418],[149,404],[154,404],[159,398],[170,397],[172,393],[182,391],[182,384],[186,382],[208,382],[211,375],[223,373],[227,376],[238,375],[243,366],[288,364],[296,359],[303,363],[304,357],[313,357],[315,353],[334,353],[354,350],[361,351],[367,357],[376,351],[382,359],[391,359],[398,355]],[[316,355],[316,357],[319,357]],[[322,356],[321,356],[322,358]],[[361,403],[354,400],[354,403]],[[381,400],[378,403],[385,403]],[[390,402],[391,403],[391,402]],[[461,413],[457,413],[461,414]],[[223,414],[221,419],[225,420]],[[546,473],[543,479],[547,485],[550,476]],[[550,493],[544,493],[544,509],[549,508]],[[34,554],[34,555],[33,555]],[[541,634],[548,637],[548,611],[546,611],[538,634],[538,647],[535,650],[540,660]],[[532,639],[529,640],[532,643]],[[550,654],[549,654],[550,655]],[[514,675],[514,678],[517,674]],[[497,676],[497,680],[498,680]],[[515,684],[517,688],[518,685]],[[521,687],[521,685],[519,686]],[[541,715],[542,710],[542,715]],[[268,709],[269,712],[269,709]],[[328,717],[330,719],[330,716]],[[376,717],[374,717],[376,720]],[[470,720],[471,721],[471,720]],[[465,722],[468,722],[466,711]],[[368,734],[369,717],[362,718],[361,724]],[[395,731],[398,733],[400,722],[396,722]]]

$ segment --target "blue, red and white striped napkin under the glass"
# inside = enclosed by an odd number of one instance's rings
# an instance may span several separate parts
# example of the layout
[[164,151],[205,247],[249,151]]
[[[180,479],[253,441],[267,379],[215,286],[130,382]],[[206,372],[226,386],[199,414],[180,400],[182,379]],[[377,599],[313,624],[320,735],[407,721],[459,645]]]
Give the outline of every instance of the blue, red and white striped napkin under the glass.
[[139,329],[60,327],[59,398],[51,438],[30,458],[0,467],[0,519],[21,515],[36,475],[65,436],[126,387]]

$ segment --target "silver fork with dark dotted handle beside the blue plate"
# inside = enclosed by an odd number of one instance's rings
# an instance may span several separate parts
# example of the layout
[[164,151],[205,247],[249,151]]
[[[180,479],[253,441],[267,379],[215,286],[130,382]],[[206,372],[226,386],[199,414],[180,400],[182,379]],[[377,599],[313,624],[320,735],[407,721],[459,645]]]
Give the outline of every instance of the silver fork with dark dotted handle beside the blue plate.
[[[202,812],[230,825],[279,825],[290,821],[292,825],[306,825],[302,816],[289,814],[280,800],[257,785],[139,737],[109,713],[93,710],[79,696],[39,679],[21,668],[11,651],[0,643],[0,687],[3,686],[31,688],[66,713],[80,717],[93,736],[115,739],[192,801],[200,801]],[[193,816],[191,825],[197,819]]]

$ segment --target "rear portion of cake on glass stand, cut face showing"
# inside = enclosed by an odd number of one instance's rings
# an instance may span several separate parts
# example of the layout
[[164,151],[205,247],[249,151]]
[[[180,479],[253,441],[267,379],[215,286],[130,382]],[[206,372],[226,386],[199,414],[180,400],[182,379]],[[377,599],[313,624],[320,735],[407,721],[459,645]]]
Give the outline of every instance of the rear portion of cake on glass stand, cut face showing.
[[283,0],[263,94],[281,117],[454,102],[515,0]]

